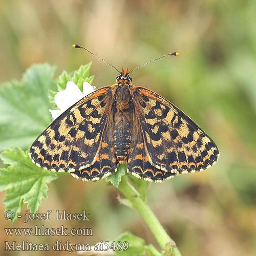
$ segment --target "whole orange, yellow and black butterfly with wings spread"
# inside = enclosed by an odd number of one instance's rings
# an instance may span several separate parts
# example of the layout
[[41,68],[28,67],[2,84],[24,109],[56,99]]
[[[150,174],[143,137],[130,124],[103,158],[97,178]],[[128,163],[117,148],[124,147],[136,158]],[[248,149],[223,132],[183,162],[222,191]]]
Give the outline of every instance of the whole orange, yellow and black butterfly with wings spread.
[[155,182],[214,164],[214,141],[177,106],[135,87],[130,73],[122,69],[113,86],[92,92],[55,119],[32,144],[32,161],[84,181],[105,178],[125,162],[127,172]]

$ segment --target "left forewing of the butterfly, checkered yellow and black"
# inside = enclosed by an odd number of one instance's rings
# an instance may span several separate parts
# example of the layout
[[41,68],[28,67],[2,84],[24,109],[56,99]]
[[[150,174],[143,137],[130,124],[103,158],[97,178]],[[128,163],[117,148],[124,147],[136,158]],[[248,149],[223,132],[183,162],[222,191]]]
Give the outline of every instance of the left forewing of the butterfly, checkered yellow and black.
[[109,92],[110,87],[96,90],[56,118],[32,144],[32,161],[56,172],[74,172],[94,164],[108,118]]

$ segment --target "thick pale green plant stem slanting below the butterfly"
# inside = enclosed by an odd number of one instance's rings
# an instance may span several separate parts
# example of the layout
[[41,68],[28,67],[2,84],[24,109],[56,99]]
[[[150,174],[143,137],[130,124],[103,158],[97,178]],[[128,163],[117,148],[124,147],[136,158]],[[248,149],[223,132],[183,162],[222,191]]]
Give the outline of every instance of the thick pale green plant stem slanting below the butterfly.
[[181,256],[175,242],[168,236],[163,226],[160,224],[151,208],[141,198],[138,191],[127,181],[127,176],[122,176],[118,188],[122,194],[131,201],[133,207],[139,211],[143,220],[154,234],[160,247],[167,253],[169,252],[166,255]]

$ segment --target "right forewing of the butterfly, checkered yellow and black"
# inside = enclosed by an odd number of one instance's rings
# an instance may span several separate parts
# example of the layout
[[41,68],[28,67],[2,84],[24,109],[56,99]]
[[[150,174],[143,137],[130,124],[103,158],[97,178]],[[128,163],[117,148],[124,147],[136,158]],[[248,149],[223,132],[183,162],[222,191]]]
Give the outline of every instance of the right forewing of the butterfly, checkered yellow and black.
[[216,144],[174,104],[142,87],[135,88],[134,98],[153,166],[178,174],[200,171],[217,161]]

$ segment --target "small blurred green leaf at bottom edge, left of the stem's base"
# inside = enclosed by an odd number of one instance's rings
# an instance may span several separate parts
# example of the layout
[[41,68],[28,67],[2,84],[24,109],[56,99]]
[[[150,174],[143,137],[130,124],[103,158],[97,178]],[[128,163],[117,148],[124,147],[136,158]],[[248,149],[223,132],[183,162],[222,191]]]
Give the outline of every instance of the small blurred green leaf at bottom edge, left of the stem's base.
[[126,231],[122,233],[117,239],[115,239],[116,243],[120,242],[128,242],[129,248],[127,250],[115,250],[117,255],[121,256],[142,256],[146,254],[145,250],[145,241],[142,238],[136,237],[133,233]]

